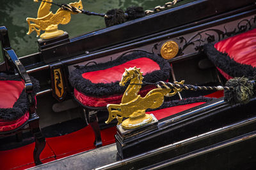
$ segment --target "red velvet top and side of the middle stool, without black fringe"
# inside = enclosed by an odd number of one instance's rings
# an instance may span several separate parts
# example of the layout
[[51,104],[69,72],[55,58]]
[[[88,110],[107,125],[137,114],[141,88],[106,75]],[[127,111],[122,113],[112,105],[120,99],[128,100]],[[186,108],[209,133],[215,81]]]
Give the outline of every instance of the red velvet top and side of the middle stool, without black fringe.
[[[83,73],[83,78],[92,81],[92,83],[113,83],[115,81],[120,81],[122,79],[122,74],[125,71],[125,68],[129,69],[129,67],[139,67],[141,68],[141,72],[143,75],[147,73],[152,73],[153,71],[160,70],[159,64],[152,59],[147,57],[141,57],[138,59],[129,60],[123,64],[118,66],[113,66],[108,69],[101,69],[97,71],[90,71]],[[143,87],[139,94],[141,96],[145,96],[149,90],[153,88],[150,86]],[[104,107],[107,104],[119,104],[121,103],[123,94],[113,94],[111,96],[104,96],[104,97],[93,97],[87,96],[82,92],[79,92],[76,88],[74,89],[74,96],[76,99],[83,104],[84,106],[91,106],[91,107]]]

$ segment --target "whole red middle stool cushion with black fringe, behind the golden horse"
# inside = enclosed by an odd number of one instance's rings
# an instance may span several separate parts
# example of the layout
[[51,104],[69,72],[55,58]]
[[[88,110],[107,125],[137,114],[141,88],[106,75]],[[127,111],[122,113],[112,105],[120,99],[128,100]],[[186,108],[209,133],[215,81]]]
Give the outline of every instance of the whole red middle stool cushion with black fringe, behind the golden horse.
[[[153,83],[169,78],[170,64],[166,60],[146,52],[133,52],[111,62],[75,69],[70,74],[74,97],[79,103],[90,107],[121,103],[126,87],[120,87],[119,81],[125,68],[134,66],[141,68],[144,81]],[[152,85],[144,86],[139,94],[145,96],[153,88]]]

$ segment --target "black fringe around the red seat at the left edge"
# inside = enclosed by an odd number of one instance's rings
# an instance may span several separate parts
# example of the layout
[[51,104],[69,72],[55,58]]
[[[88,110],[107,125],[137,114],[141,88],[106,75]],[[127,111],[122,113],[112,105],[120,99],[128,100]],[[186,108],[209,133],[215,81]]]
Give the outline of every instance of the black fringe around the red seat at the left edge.
[[[33,77],[30,77],[33,83],[33,99],[35,98],[36,92],[39,92],[40,86],[39,81]],[[19,76],[7,75],[4,73],[0,74],[1,80],[15,80],[21,81]],[[25,89],[21,92],[19,99],[13,104],[13,108],[0,108],[0,118],[4,120],[16,120],[22,117],[29,110],[29,101],[26,95]]]

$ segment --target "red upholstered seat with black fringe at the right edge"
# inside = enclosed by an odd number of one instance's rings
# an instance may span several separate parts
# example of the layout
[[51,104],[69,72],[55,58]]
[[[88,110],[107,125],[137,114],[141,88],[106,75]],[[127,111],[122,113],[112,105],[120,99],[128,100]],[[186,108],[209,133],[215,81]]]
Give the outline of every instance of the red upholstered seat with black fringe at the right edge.
[[224,39],[205,52],[227,79],[256,74],[256,29]]

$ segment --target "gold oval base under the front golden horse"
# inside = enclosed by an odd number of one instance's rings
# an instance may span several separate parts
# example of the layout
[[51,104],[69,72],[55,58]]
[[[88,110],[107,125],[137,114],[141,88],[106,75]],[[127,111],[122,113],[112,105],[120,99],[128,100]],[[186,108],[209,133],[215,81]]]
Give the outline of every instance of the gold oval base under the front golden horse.
[[141,115],[140,117],[127,118],[122,122],[122,127],[124,129],[134,129],[136,127],[143,126],[152,122],[153,117],[148,114]]

